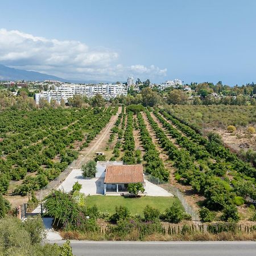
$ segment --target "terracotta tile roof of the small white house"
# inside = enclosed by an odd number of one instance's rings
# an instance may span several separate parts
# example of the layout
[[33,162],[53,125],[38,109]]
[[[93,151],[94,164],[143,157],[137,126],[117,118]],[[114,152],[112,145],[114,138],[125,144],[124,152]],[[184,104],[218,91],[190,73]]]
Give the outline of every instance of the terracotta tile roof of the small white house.
[[104,183],[144,182],[142,164],[107,166]]

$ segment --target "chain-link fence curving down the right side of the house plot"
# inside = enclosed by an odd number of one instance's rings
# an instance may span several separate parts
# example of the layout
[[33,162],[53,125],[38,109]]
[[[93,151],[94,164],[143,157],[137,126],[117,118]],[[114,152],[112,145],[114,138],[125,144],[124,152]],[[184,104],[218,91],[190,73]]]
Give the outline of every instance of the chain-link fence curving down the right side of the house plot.
[[181,191],[179,191],[178,188],[174,187],[170,183],[167,183],[166,181],[159,179],[158,177],[154,177],[151,174],[147,174],[146,172],[144,172],[144,178],[156,185],[164,184],[161,187],[164,187],[164,189],[172,193],[174,196],[176,196],[180,200],[181,204],[184,207],[185,212],[191,215],[192,221],[200,221],[197,211],[187,203],[187,200],[185,199],[184,194]]

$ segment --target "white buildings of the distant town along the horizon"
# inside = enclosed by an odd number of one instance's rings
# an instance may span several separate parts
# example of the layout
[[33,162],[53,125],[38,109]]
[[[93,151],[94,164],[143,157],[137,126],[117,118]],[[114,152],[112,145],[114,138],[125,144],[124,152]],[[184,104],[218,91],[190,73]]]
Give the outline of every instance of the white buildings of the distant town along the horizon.
[[[10,81],[2,82],[2,85],[6,88],[38,88],[38,90],[35,92],[35,102],[36,104],[39,104],[41,99],[47,100],[48,102],[54,100],[59,103],[61,100],[64,100],[64,102],[67,103],[68,98],[72,98],[75,95],[92,98],[96,94],[100,94],[105,100],[110,100],[110,98],[116,98],[118,96],[127,96],[130,89],[139,92],[139,88],[143,85],[143,82],[140,80],[135,82],[133,77],[129,77],[127,82],[116,82],[115,84],[70,84],[67,82],[46,80],[43,82]],[[149,87],[156,87],[163,90],[168,87],[177,88],[179,86],[182,86],[184,90],[191,90],[188,85],[183,86],[183,82],[179,79],[165,81],[162,84],[150,83]],[[14,95],[16,93],[16,91],[13,92]]]

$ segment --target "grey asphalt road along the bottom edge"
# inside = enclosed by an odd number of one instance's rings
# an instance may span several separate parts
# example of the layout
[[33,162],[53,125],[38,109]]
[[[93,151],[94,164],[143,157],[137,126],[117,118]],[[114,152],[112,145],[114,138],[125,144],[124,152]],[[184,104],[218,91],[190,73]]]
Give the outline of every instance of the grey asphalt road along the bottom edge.
[[[63,242],[60,242],[63,243]],[[249,256],[256,242],[91,242],[71,241],[76,256]]]

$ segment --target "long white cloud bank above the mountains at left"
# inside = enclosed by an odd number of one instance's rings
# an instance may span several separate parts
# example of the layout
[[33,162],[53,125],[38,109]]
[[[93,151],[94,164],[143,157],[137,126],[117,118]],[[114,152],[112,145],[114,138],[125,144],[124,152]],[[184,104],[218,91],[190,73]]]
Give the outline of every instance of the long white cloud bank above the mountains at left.
[[18,30],[0,29],[0,63],[73,79],[115,80],[127,76],[162,77],[167,69],[115,64],[118,53],[92,49],[74,40],[46,39]]

